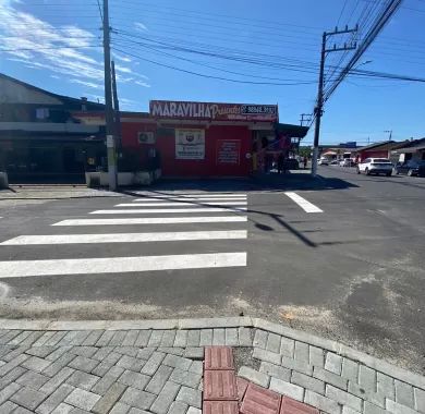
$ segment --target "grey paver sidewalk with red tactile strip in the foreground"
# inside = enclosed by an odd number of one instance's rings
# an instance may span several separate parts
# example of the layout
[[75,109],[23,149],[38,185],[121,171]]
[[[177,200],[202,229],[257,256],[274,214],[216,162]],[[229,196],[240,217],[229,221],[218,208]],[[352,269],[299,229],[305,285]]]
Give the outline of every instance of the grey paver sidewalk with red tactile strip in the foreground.
[[0,413],[425,413],[424,377],[233,319],[0,321]]

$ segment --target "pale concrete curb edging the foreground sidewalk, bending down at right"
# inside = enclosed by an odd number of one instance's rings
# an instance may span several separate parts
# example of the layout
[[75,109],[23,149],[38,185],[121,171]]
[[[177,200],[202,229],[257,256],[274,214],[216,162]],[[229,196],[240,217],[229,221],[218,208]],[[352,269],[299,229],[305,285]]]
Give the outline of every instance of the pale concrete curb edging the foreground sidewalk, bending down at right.
[[0,329],[19,330],[144,330],[144,329],[211,329],[211,328],[257,328],[277,333],[300,342],[318,346],[354,360],[390,377],[425,390],[425,377],[391,365],[382,360],[360,352],[340,342],[319,338],[260,318],[197,318],[197,319],[158,319],[158,320],[29,320],[0,319]]

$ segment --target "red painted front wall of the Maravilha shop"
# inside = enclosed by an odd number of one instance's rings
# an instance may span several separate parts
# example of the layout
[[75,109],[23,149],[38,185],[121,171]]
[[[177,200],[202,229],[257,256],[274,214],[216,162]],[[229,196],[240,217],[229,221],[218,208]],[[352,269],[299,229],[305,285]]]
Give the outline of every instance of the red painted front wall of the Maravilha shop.
[[[194,129],[193,125],[179,125],[179,129]],[[201,126],[199,126],[201,127]],[[246,158],[251,153],[252,132],[247,126],[210,125],[205,127],[205,158],[175,159],[174,126],[158,127],[156,144],[138,144],[138,132],[155,131],[156,125],[149,123],[123,123],[122,145],[137,151],[143,163],[147,161],[149,148],[156,148],[160,157],[162,175],[165,176],[246,176],[251,172],[252,161]],[[236,163],[219,162],[217,151],[222,141],[236,141],[239,160]]]

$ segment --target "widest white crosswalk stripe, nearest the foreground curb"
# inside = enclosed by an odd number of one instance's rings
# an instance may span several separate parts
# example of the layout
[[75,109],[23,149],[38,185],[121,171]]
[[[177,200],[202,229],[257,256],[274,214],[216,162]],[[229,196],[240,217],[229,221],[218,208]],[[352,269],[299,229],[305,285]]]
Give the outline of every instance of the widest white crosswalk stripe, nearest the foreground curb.
[[123,273],[246,266],[246,253],[0,261],[0,278]]

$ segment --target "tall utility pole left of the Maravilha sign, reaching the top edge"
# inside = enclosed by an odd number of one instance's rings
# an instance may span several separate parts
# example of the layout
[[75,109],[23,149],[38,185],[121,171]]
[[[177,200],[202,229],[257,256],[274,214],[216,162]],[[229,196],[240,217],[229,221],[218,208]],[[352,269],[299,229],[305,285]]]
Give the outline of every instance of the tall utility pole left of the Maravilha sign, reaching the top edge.
[[108,0],[104,0],[105,120],[108,151],[109,190],[117,190],[117,154],[111,84],[111,47]]

